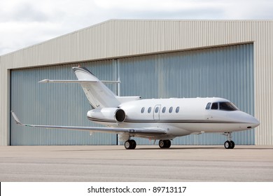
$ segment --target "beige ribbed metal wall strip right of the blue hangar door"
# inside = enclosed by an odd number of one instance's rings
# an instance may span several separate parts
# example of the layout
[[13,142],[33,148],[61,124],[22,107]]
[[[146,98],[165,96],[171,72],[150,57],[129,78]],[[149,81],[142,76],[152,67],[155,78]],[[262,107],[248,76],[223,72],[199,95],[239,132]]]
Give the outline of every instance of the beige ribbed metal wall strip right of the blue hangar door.
[[255,129],[258,145],[273,145],[273,22],[257,24],[255,36],[255,115],[260,126]]

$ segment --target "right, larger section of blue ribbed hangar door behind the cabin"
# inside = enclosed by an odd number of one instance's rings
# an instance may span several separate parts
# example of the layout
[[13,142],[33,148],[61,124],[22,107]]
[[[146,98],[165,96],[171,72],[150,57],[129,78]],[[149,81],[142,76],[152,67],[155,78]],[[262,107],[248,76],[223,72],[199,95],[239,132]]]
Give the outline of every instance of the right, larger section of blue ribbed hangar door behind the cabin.
[[[253,44],[119,59],[120,94],[145,98],[223,97],[254,114]],[[255,144],[253,130],[236,132],[236,144]],[[179,137],[172,144],[223,144],[221,134]],[[151,144],[137,139],[138,144]]]

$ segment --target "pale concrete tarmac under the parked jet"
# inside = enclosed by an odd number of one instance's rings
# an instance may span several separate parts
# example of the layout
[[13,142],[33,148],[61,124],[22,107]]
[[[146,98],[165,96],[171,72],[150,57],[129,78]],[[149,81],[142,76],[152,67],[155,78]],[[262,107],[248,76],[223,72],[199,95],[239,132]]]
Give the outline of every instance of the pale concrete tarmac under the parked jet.
[[273,181],[273,146],[0,146],[0,181]]

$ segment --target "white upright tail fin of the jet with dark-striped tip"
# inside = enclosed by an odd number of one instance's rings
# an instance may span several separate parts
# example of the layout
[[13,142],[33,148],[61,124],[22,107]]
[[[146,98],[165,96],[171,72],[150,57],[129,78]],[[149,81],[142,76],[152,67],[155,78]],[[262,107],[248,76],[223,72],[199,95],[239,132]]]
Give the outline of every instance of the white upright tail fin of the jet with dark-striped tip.
[[81,82],[80,85],[83,87],[83,91],[85,92],[88,101],[95,109],[116,107],[120,104],[116,95],[88,69],[85,67],[73,67],[72,69],[78,80],[87,80],[86,83]]

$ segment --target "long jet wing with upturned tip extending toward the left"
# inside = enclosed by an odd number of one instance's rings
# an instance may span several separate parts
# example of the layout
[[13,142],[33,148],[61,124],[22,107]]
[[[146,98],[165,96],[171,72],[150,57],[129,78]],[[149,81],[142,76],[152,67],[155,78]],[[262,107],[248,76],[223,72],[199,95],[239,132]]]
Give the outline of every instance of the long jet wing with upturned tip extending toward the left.
[[55,125],[27,125],[21,123],[18,117],[13,111],[11,111],[15,123],[25,127],[41,127],[47,129],[61,129],[61,130],[78,130],[78,131],[88,131],[88,132],[106,132],[106,133],[116,133],[123,134],[127,133],[130,135],[139,135],[139,136],[151,136],[156,137],[160,135],[167,134],[166,130],[160,129],[158,127],[149,127],[149,128],[116,128],[116,127],[76,127],[76,126],[55,126]]

